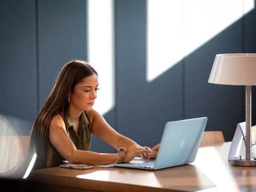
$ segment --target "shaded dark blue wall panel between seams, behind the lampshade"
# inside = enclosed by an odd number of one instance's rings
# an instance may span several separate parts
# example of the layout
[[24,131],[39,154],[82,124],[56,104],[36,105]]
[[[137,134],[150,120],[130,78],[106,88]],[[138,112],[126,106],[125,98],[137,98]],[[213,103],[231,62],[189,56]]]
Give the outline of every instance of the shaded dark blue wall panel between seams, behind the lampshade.
[[185,59],[185,118],[208,117],[206,131],[222,130],[233,139],[243,121],[242,87],[209,84],[213,61],[219,53],[242,53],[242,22],[237,21]]

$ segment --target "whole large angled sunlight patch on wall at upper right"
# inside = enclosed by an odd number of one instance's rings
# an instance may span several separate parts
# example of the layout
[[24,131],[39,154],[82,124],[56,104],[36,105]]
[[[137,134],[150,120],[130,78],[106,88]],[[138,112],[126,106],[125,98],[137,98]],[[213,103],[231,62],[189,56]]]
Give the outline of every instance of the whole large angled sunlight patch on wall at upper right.
[[253,10],[254,0],[148,0],[147,81]]

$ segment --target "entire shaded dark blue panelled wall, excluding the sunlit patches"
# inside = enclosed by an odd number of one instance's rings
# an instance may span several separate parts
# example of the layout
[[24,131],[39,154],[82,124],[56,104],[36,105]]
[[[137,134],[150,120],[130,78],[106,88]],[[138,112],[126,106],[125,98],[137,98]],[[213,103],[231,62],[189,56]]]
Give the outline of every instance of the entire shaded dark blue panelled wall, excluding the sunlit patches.
[[[86,7],[85,0],[0,0],[0,114],[31,123],[16,128],[19,135],[29,134],[63,64],[87,59]],[[153,146],[167,121],[206,116],[207,131],[232,140],[245,121],[245,89],[209,84],[208,77],[216,54],[256,53],[256,10],[152,82],[146,81],[146,11],[146,0],[115,1],[116,105],[104,115],[107,122]],[[92,150],[114,151],[94,136]]]

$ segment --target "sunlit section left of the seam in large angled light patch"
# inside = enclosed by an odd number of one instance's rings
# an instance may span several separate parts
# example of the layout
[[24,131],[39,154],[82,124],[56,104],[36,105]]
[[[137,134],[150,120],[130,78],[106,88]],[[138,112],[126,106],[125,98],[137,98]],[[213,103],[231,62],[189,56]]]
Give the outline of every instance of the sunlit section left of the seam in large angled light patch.
[[183,57],[182,0],[148,0],[147,81]]

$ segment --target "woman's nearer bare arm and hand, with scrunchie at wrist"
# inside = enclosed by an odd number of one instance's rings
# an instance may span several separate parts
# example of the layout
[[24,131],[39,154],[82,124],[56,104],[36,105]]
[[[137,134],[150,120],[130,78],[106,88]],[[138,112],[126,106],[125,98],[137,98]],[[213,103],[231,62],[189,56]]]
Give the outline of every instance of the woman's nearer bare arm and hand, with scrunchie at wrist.
[[[69,163],[84,163],[87,165],[107,165],[112,164],[118,159],[118,154],[99,154],[92,151],[77,150],[73,142],[69,139],[66,132],[65,123],[63,119],[56,115],[53,117],[50,123],[49,139],[53,146],[59,151]],[[124,162],[128,162],[135,156],[150,152],[146,149],[133,149],[134,147],[128,149],[126,152],[126,158]]]

